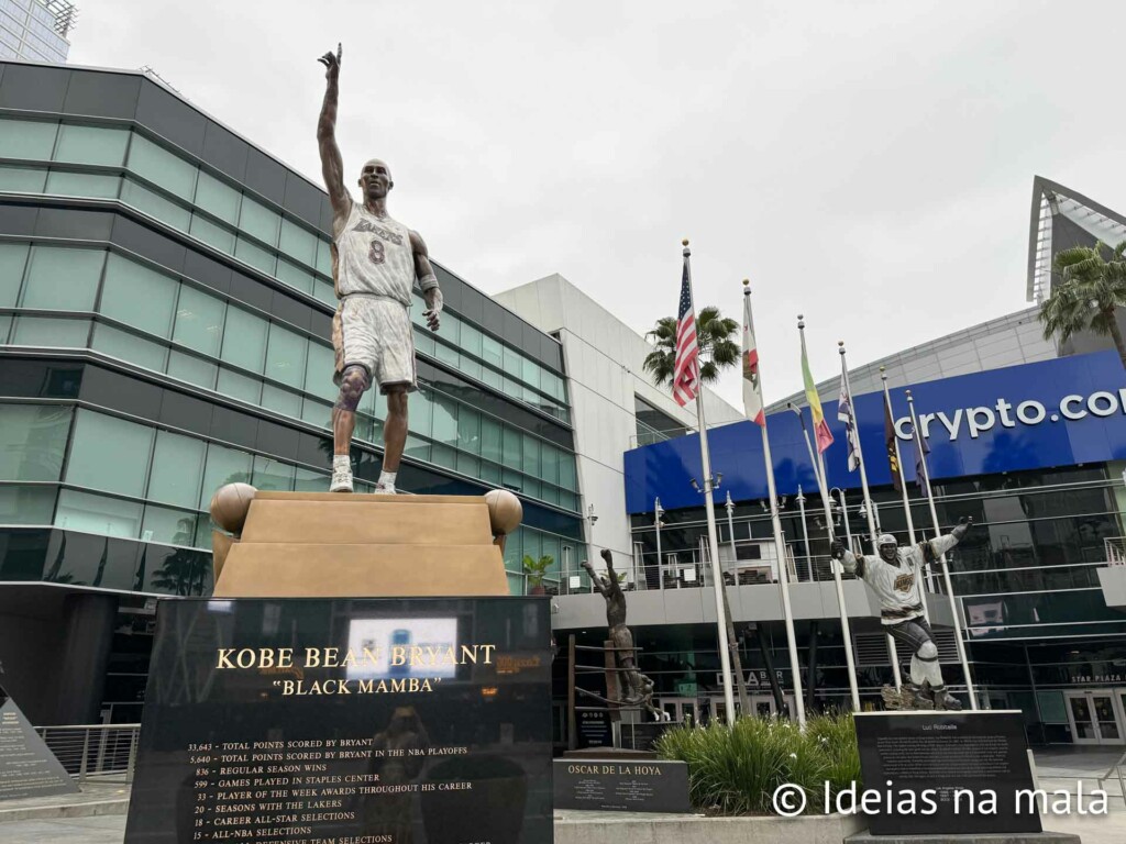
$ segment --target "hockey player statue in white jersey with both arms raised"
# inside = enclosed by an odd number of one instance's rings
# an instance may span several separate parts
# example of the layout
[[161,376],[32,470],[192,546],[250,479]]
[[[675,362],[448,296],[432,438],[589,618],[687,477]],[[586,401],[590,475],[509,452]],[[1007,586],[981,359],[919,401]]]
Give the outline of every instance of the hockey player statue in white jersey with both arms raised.
[[900,548],[895,537],[884,533],[876,540],[878,557],[858,557],[838,540],[832,544],[832,555],[844,571],[856,574],[879,598],[884,629],[911,650],[911,682],[904,686],[914,709],[962,709],[942,682],[935,635],[923,614],[922,569],[962,541],[973,523],[963,519],[946,536],[910,548]]

